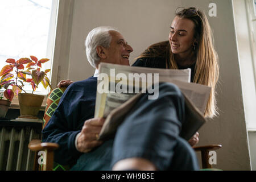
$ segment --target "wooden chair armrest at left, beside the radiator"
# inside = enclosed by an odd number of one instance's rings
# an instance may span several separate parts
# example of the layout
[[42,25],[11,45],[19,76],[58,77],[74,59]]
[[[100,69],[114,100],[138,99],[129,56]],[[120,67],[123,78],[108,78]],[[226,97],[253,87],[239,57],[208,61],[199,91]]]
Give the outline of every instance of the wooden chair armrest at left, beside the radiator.
[[54,151],[59,148],[59,144],[57,143],[48,143],[48,142],[41,142],[38,139],[32,139],[31,142],[28,144],[28,148],[31,151],[40,151],[40,150],[48,150]]

